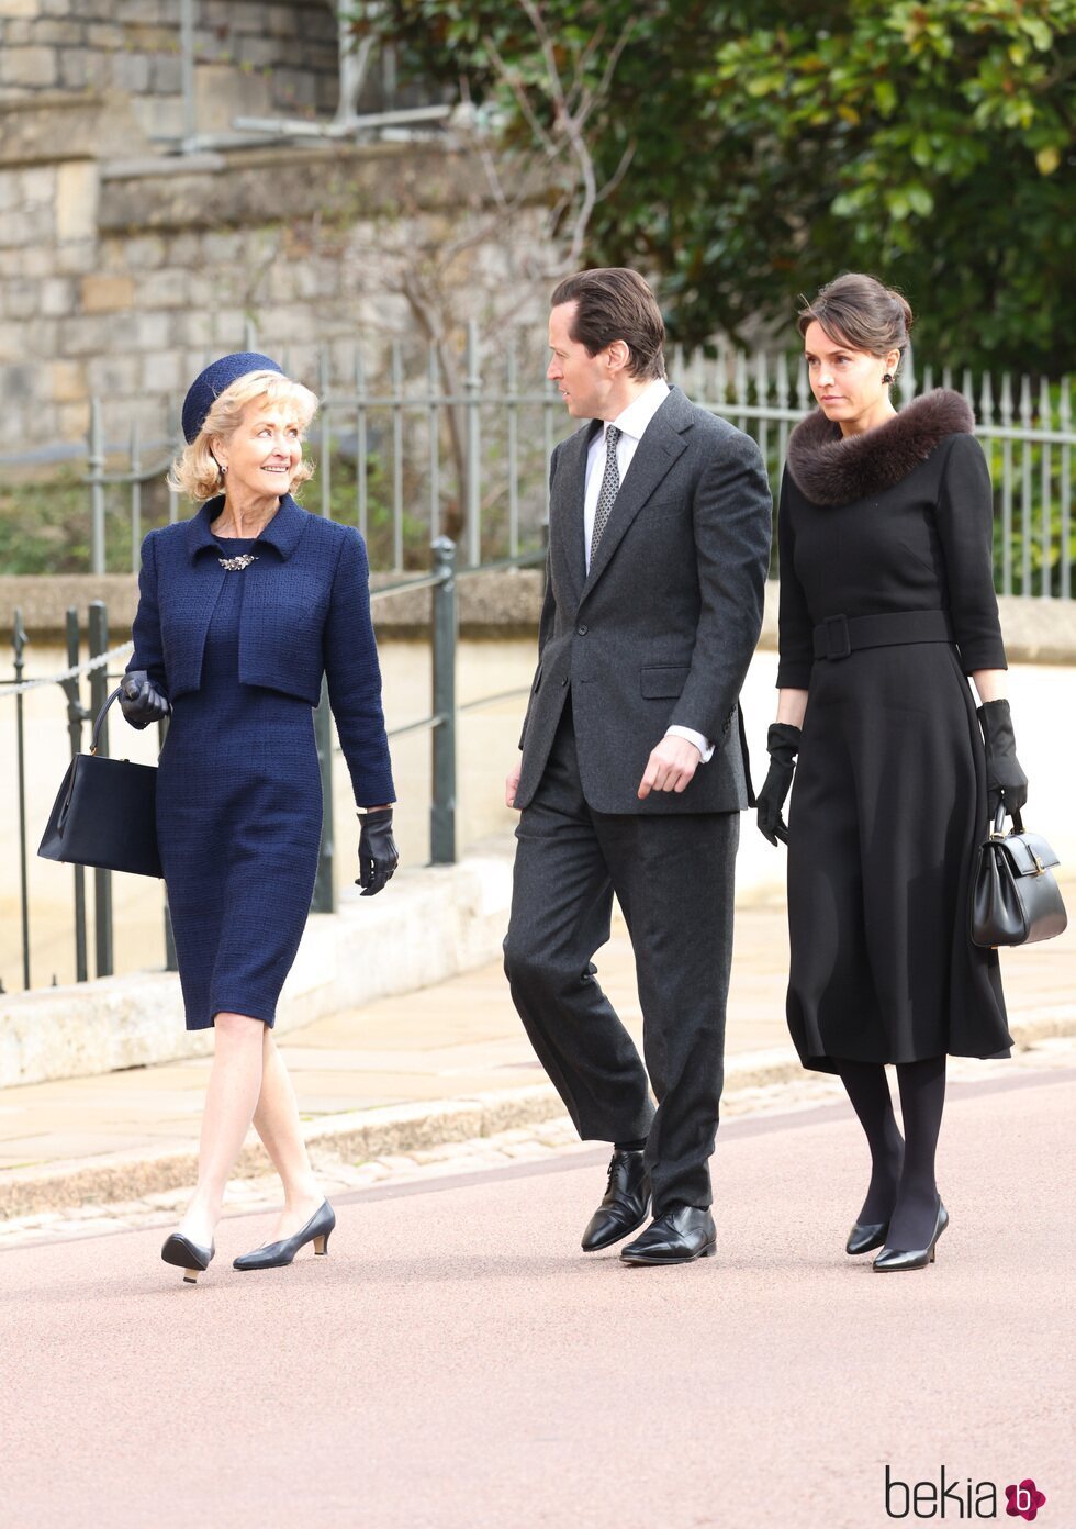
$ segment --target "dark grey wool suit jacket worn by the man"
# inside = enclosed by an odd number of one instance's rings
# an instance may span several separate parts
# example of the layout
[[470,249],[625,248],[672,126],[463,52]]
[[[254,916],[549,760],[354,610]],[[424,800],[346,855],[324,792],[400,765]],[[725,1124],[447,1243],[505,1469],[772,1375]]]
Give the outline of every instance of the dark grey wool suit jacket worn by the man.
[[[550,463],[546,599],[515,806],[541,780],[569,688],[595,812],[737,812],[750,787],[738,696],[763,624],[773,502],[755,442],[672,388],[585,572],[590,420]],[[717,745],[686,790],[637,797],[671,725]]]

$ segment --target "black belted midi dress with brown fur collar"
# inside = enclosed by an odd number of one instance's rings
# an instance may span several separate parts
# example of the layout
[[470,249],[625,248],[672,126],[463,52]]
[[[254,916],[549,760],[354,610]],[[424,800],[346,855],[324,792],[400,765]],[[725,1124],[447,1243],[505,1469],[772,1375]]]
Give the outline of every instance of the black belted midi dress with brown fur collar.
[[809,697],[789,803],[787,1020],[822,1072],[1012,1044],[997,953],[972,945],[967,920],[987,798],[966,676],[1006,667],[971,428],[960,394],[938,390],[848,439],[813,414],[789,443],[778,687]]

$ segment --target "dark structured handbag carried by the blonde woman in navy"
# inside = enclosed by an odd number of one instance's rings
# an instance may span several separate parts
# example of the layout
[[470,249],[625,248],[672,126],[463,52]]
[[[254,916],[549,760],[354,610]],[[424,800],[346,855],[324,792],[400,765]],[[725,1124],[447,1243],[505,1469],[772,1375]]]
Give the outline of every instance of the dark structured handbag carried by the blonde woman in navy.
[[119,687],[96,716],[90,752],[70,761],[38,855],[69,865],[160,876],[156,768],[98,758],[96,752],[105,713],[118,694]]

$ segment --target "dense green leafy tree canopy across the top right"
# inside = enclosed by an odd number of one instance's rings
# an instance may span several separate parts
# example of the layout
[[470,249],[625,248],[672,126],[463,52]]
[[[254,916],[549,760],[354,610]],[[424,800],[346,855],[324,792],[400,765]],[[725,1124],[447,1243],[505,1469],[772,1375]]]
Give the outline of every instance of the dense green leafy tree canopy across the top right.
[[[595,78],[633,24],[590,124],[599,180],[633,159],[595,208],[588,257],[659,275],[677,339],[789,323],[801,292],[867,269],[906,292],[935,365],[1071,364],[1076,0],[541,0],[541,12],[564,57],[598,38]],[[411,72],[466,75],[509,150],[530,136],[495,66],[543,99],[518,0],[385,0],[373,24]]]

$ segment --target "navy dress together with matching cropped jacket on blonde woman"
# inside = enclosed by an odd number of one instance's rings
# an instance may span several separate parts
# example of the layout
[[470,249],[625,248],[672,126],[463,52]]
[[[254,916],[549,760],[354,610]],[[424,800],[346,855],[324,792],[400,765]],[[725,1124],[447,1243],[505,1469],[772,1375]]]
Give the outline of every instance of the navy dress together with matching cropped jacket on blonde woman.
[[274,1024],[318,868],[322,673],[356,803],[394,797],[361,537],[286,497],[257,541],[219,541],[220,509],[147,537],[130,661],[173,706],[157,842],[191,1031]]

